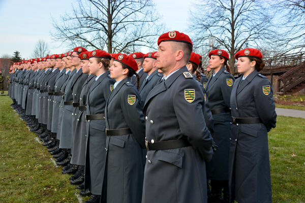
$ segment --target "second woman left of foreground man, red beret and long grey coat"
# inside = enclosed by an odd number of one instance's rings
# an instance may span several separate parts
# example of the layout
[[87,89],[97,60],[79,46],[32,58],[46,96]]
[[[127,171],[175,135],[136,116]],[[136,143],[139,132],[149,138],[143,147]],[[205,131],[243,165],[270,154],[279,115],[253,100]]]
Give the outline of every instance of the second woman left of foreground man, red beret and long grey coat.
[[[86,121],[86,161],[85,189],[93,195],[87,203],[100,202],[105,172],[105,106],[114,80],[110,78],[108,67],[111,55],[103,50],[89,52],[88,67],[96,75],[87,94]],[[85,190],[86,191],[86,190]]]

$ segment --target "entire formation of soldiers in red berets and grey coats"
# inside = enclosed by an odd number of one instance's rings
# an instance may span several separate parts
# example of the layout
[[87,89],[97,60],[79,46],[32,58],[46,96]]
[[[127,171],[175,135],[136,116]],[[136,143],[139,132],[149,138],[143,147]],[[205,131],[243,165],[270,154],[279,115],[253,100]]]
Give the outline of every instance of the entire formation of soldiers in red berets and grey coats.
[[211,51],[207,79],[192,48],[170,31],[145,55],[76,47],[23,61],[12,105],[86,202],[271,202],[276,113],[260,51],[235,54],[236,80],[229,54]]

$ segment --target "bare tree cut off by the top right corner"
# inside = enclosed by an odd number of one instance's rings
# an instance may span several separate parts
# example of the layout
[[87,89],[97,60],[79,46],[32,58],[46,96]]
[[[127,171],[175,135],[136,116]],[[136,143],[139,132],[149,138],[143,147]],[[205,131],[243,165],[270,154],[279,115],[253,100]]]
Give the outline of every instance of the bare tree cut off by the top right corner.
[[274,5],[277,8],[277,24],[281,30],[282,39],[279,46],[286,52],[299,51],[305,48],[305,1],[304,0],[279,0]]

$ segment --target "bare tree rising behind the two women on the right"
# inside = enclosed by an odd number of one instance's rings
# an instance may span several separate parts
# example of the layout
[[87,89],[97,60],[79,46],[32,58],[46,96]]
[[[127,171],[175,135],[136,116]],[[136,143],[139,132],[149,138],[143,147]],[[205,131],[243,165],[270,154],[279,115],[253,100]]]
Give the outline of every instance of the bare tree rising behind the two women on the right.
[[208,38],[215,37],[214,47],[228,50],[232,74],[237,51],[247,46],[270,45],[269,41],[275,38],[272,15],[263,1],[205,0],[194,9],[190,29],[195,47],[207,47]]

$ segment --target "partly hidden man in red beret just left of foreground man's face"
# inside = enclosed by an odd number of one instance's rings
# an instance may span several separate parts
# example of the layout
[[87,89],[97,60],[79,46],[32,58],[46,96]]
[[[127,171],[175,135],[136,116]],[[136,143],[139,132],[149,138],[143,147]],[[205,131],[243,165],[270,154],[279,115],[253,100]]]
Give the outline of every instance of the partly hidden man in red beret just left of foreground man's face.
[[148,52],[144,55],[143,71],[144,73],[147,73],[147,76],[139,89],[143,104],[146,100],[147,94],[155,87],[162,77],[162,74],[158,73],[157,58],[154,56],[155,53],[156,52]]

